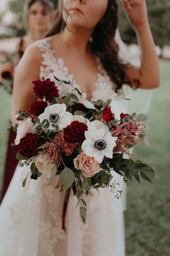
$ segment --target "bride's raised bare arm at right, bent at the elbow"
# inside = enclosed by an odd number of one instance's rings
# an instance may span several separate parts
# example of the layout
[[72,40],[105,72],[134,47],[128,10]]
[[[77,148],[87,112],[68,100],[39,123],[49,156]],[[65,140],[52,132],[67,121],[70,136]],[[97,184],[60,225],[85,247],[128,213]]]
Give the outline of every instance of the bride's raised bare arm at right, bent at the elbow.
[[125,73],[132,86],[136,87],[135,81],[139,81],[139,87],[152,89],[160,85],[159,59],[155,51],[155,43],[152,37],[147,18],[145,0],[123,1],[126,15],[136,31],[138,44],[141,48],[140,68],[128,64]]

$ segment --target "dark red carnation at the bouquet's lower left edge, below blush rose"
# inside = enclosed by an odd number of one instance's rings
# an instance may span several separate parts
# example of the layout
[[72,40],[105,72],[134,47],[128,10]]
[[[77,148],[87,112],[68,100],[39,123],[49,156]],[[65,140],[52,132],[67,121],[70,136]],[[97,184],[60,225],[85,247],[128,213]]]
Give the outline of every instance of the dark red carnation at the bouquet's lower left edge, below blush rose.
[[27,133],[24,138],[20,139],[19,153],[24,157],[30,158],[37,154],[39,146],[39,136],[37,134]]

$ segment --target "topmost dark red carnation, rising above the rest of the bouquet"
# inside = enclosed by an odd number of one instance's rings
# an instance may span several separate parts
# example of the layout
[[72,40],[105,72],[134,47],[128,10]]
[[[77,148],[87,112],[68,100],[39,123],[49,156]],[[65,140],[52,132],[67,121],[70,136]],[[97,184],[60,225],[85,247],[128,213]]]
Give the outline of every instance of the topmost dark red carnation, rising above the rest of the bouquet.
[[44,97],[48,102],[52,102],[52,98],[58,97],[58,89],[55,86],[55,82],[51,81],[49,78],[46,80],[35,80],[33,81],[34,86],[34,93],[40,98],[43,99]]

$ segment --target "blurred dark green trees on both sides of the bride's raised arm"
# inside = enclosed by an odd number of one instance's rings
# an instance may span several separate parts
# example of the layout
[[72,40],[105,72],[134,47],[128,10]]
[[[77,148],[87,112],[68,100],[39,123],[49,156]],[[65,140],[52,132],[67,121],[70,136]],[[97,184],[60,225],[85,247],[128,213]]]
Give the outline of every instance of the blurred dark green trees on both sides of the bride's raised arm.
[[[170,45],[170,0],[146,0],[148,19],[155,44]],[[122,3],[119,4],[119,30],[124,42],[136,43],[136,34],[127,21]]]

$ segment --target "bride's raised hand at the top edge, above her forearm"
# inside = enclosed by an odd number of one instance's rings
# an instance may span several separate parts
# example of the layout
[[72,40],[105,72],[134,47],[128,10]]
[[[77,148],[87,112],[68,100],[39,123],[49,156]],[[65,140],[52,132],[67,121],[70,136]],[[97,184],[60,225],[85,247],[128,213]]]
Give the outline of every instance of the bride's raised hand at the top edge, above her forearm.
[[148,22],[146,0],[121,0],[131,24],[137,28]]

